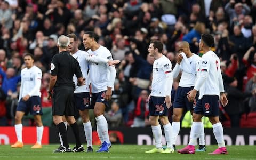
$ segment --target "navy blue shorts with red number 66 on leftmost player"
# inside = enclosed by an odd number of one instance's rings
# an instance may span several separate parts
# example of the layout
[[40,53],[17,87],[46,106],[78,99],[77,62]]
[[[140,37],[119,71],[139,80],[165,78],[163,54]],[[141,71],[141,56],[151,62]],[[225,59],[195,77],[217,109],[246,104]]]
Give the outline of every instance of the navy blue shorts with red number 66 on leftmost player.
[[19,101],[17,111],[25,112],[25,115],[43,115],[41,98],[39,96],[29,97],[27,101]]

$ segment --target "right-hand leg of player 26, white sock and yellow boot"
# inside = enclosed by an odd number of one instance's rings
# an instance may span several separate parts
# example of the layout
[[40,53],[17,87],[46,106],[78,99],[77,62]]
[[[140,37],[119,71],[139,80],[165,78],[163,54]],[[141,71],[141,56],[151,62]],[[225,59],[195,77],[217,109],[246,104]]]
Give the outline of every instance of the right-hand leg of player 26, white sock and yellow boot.
[[160,116],[160,122],[164,127],[164,135],[167,143],[167,148],[164,150],[164,153],[173,153],[173,144],[172,144],[172,125],[168,120],[167,116]]

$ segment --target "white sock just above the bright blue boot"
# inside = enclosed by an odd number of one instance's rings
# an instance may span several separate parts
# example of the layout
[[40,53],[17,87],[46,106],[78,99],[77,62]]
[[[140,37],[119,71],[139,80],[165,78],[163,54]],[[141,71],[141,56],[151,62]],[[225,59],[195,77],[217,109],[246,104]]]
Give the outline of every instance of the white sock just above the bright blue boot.
[[97,133],[99,135],[101,144],[104,141],[106,141],[107,143],[110,143],[109,135],[108,135],[107,119],[103,115],[95,117],[95,119],[96,119]]

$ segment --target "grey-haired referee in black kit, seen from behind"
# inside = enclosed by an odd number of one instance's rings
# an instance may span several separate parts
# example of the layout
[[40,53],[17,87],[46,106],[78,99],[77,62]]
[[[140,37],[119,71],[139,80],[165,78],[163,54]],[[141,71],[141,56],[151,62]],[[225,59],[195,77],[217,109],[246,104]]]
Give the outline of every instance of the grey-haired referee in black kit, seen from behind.
[[65,116],[67,122],[75,134],[76,148],[83,148],[79,137],[79,129],[74,118],[73,107],[73,76],[76,75],[78,85],[84,85],[84,79],[79,66],[79,63],[73,58],[68,50],[69,38],[61,35],[58,38],[59,54],[54,55],[51,62],[51,78],[49,85],[49,98],[52,98],[52,115],[53,122],[57,126],[63,146],[55,149],[53,152],[70,152],[68,145],[67,130],[62,121]]

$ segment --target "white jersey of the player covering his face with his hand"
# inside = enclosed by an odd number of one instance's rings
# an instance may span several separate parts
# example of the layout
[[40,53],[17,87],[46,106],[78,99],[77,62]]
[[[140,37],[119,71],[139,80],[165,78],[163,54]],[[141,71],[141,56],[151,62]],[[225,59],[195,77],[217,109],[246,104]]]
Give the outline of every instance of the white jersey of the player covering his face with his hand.
[[191,70],[194,70],[194,73],[188,73],[182,69],[182,66],[180,66],[181,77],[180,77],[179,86],[181,87],[195,86],[197,69],[199,67],[200,59],[201,58],[199,57],[199,55],[196,55],[196,54],[193,54],[191,57],[188,58],[189,65],[190,65],[188,66],[188,68],[191,68]]

